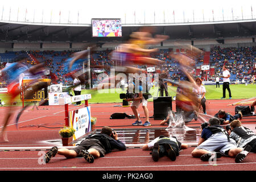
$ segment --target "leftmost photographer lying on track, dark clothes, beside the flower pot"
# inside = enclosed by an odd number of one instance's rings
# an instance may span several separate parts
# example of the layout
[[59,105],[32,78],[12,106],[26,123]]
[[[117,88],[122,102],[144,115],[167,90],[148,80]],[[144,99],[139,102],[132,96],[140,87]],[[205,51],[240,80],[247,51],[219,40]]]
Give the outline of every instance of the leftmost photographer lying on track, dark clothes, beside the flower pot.
[[90,134],[82,142],[73,149],[52,147],[44,156],[44,161],[48,163],[56,154],[64,155],[66,158],[76,158],[82,156],[86,162],[93,163],[94,158],[104,157],[105,154],[112,152],[116,148],[118,150],[126,150],[126,146],[118,140],[117,133],[104,126],[101,133]]

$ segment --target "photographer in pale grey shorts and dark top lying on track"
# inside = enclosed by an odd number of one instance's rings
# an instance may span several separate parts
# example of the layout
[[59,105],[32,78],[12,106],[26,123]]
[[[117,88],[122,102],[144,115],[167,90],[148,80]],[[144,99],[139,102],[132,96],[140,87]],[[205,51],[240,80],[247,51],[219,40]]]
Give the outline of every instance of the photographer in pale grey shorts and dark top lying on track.
[[208,161],[213,155],[216,158],[224,155],[235,158],[236,163],[241,163],[251,150],[249,145],[244,148],[237,147],[236,141],[229,137],[228,132],[220,126],[220,120],[217,118],[210,118],[209,126],[203,123],[202,129],[199,143],[191,153],[193,157]]

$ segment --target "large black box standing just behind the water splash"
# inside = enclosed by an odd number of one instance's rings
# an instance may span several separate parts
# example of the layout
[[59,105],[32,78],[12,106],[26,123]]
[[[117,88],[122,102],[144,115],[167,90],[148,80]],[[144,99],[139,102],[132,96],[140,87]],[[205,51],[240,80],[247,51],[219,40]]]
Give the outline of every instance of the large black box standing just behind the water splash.
[[154,119],[165,119],[172,110],[172,97],[154,97]]

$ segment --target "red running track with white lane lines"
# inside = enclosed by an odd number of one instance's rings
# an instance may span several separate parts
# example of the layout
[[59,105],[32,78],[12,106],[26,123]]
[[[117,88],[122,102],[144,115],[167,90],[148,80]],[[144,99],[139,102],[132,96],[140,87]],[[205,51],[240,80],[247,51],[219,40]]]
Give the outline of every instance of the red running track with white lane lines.
[[[207,101],[207,113],[214,115],[219,109],[224,109],[234,114],[234,106],[227,106],[238,100],[210,100]],[[120,107],[117,107],[119,105]],[[121,103],[114,104],[91,104],[91,115],[97,118],[96,127],[111,126],[113,128],[135,128],[131,126],[134,119],[109,119],[113,113],[132,114],[129,107],[121,107]],[[82,107],[82,106],[80,106]],[[173,102],[173,110],[175,103]],[[69,109],[77,108],[69,106]],[[0,114],[3,116],[7,107],[1,107]],[[18,108],[17,108],[18,109]],[[150,116],[153,115],[153,103],[148,103]],[[139,107],[141,117],[144,117],[143,110]],[[3,117],[1,117],[3,119]],[[243,117],[243,124],[250,125],[255,129],[256,117]],[[144,118],[142,118],[144,122]],[[159,120],[150,118],[151,128],[162,127]],[[1,122],[2,123],[2,122]],[[0,147],[48,147],[53,143],[48,140],[60,140],[58,131],[64,126],[64,106],[39,106],[39,110],[27,110],[19,120],[19,129],[13,125],[7,127],[10,142],[0,143]],[[192,121],[187,126],[200,126],[199,121]],[[143,126],[138,126],[143,127]],[[146,127],[143,127],[146,128]],[[61,146],[60,146],[61,147]],[[217,166],[201,162],[200,159],[192,158],[191,151],[195,147],[183,150],[175,162],[171,162],[167,157],[161,158],[159,162],[151,159],[149,151],[142,151],[141,148],[129,148],[126,151],[115,151],[107,154],[104,158],[96,159],[93,164],[88,164],[82,158],[65,159],[57,155],[50,163],[39,164],[39,159],[44,151],[0,151],[0,171],[220,171],[230,169],[236,171],[255,171],[256,155],[250,153],[243,163],[237,164],[233,158],[222,157],[217,160]],[[40,155],[41,154],[41,155]]]

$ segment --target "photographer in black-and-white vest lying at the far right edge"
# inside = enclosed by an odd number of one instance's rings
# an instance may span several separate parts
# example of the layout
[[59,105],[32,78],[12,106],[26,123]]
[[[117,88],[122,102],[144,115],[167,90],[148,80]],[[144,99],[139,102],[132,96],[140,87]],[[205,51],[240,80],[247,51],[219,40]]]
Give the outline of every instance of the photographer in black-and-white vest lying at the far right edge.
[[236,140],[238,147],[245,147],[249,144],[251,152],[256,153],[256,134],[247,127],[242,126],[241,121],[232,121],[230,125],[226,126],[226,130],[230,133],[229,137]]

